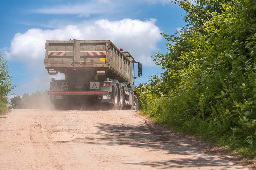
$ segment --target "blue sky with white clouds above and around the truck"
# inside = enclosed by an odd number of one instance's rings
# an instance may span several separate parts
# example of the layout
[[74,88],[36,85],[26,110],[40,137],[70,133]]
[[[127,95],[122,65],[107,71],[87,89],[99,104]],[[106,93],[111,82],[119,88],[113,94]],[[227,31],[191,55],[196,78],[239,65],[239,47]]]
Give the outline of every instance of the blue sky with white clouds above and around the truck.
[[160,33],[185,25],[185,11],[170,0],[2,0],[0,51],[8,62],[16,95],[49,90],[44,68],[46,40],[110,40],[142,63],[143,75],[159,74],[151,55],[167,52]]

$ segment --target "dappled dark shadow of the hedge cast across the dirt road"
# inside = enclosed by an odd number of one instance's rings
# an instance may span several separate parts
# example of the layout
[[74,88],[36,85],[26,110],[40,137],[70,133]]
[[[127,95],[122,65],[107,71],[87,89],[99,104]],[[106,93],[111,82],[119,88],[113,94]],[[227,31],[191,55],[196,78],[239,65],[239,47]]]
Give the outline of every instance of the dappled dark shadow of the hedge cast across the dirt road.
[[[189,147],[191,141],[189,141],[188,137],[177,136],[175,133],[157,124],[124,125],[102,123],[96,127],[99,131],[95,135],[102,137],[84,137],[77,138],[76,140],[80,142],[86,140],[84,142],[86,144],[127,145],[129,147],[147,148],[152,152],[165,151],[165,153],[167,152],[166,154],[195,155],[192,159],[190,156],[189,159],[174,158],[164,162],[151,161],[126,164],[151,166],[159,169],[201,166],[229,167],[228,161],[216,157],[204,157],[196,148]],[[91,142],[88,142],[88,140]],[[237,167],[236,169],[240,168]]]

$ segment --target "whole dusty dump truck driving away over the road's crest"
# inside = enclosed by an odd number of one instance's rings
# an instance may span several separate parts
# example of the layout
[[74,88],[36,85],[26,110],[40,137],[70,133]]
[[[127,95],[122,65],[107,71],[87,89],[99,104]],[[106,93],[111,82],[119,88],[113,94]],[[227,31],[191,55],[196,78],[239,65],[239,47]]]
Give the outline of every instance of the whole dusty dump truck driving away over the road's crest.
[[44,65],[50,75],[65,74],[49,82],[50,101],[58,110],[79,110],[84,104],[138,109],[134,89],[142,65],[110,40],[46,41]]

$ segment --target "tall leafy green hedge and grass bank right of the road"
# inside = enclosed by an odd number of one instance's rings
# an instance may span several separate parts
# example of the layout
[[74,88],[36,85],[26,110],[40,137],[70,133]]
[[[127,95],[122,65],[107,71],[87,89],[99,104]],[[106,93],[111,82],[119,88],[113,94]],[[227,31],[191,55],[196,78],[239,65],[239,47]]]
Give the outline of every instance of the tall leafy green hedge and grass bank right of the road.
[[[175,1],[186,26],[164,34],[164,69],[137,91],[144,113],[256,158],[256,1]],[[171,21],[170,21],[171,22]]]

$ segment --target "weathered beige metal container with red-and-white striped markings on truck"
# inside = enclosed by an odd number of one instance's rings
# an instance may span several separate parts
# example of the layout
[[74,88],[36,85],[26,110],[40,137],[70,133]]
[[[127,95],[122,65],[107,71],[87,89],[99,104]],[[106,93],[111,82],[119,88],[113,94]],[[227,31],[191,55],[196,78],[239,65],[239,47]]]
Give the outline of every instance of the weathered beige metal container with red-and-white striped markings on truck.
[[119,82],[132,82],[130,53],[121,52],[109,40],[46,41],[45,49],[44,65],[49,74],[94,70]]

